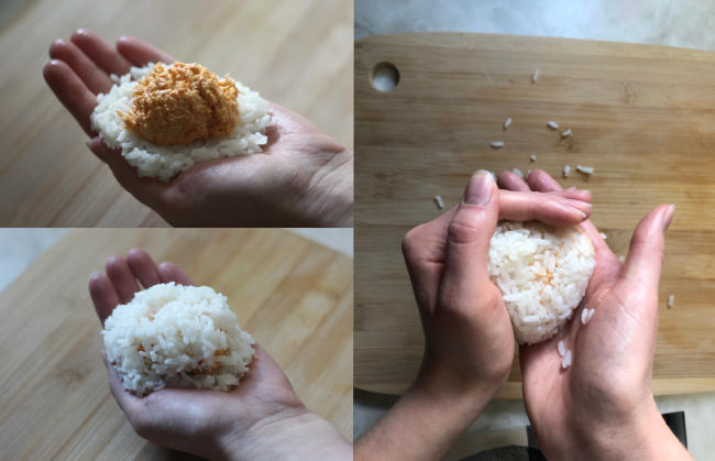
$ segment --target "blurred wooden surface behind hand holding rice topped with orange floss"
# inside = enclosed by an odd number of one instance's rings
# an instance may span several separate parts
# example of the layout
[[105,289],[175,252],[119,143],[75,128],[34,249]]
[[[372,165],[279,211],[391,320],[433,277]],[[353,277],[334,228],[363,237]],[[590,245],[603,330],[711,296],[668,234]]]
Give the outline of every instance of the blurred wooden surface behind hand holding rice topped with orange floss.
[[166,226],[89,152],[81,129],[45,85],[50,44],[78,28],[110,42],[135,35],[178,59],[231,73],[352,147],[351,0],[28,0],[18,11],[14,6],[0,6],[0,226]]

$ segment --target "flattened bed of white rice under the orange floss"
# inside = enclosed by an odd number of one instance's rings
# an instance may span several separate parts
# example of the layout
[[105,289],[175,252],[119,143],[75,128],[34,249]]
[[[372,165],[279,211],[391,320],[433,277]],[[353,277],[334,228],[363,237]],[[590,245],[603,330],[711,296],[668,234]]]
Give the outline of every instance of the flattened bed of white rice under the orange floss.
[[[262,152],[268,142],[266,129],[272,124],[268,102],[258,92],[235,81],[239,90],[239,123],[230,136],[195,141],[189,145],[158,146],[142,140],[128,130],[118,111],[130,112],[136,80],[154,66],[132,67],[129,74],[116,78],[116,85],[106,95],[97,95],[97,107],[91,114],[91,128],[110,149],[121,149],[122,156],[135,166],[139,176],[169,180],[195,163],[220,157]],[[166,66],[167,68],[172,66]]]

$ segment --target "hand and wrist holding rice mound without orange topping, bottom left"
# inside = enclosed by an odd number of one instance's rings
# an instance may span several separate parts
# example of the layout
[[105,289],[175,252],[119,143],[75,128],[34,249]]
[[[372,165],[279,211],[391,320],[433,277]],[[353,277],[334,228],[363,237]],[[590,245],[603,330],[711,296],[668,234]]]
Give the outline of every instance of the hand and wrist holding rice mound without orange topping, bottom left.
[[[168,282],[191,285],[173,263],[156,266],[146,252],[134,249],[125,259],[110,259],[107,275],[92,275],[89,293],[103,325],[140,284],[146,288]],[[352,457],[348,441],[302,405],[280,367],[257,344],[249,372],[229,392],[164,388],[138,397],[123,388],[106,359],[105,364],[112,395],[136,433],[161,446],[211,459]]]

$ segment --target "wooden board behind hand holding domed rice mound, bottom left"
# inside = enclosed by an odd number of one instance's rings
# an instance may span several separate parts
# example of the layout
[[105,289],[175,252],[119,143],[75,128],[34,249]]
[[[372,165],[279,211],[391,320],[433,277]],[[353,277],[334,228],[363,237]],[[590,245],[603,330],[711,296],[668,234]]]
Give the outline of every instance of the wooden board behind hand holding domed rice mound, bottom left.
[[167,459],[107,385],[87,281],[133,246],[229,298],[304,403],[352,438],[352,260],[284,230],[73,230],[0,294],[8,459]]

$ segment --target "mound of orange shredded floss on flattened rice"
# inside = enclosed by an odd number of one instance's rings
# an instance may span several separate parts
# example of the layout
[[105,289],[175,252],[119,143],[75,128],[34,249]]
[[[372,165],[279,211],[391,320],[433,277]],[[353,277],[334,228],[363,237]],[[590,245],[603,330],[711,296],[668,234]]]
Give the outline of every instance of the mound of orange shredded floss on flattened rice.
[[134,87],[127,128],[157,145],[227,136],[239,122],[235,81],[199,64],[157,63]]

